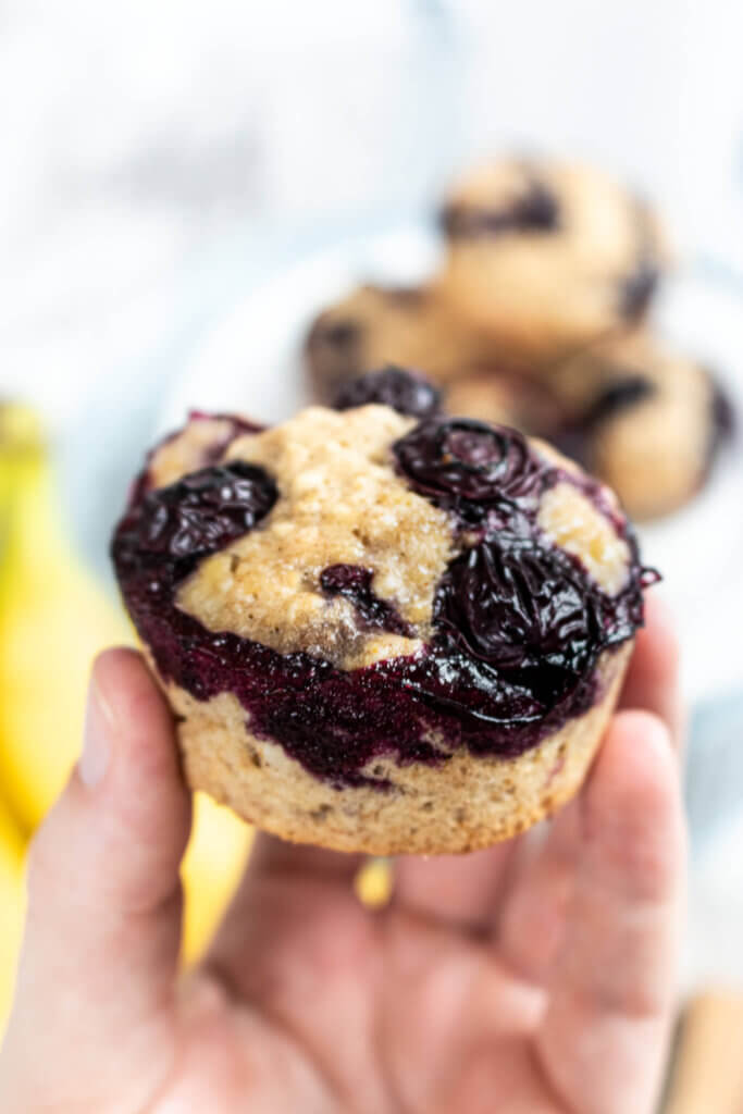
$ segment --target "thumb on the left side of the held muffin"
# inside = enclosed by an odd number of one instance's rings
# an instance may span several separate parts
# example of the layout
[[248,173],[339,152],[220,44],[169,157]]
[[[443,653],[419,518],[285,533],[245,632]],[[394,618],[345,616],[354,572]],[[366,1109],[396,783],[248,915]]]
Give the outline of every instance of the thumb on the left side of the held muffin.
[[33,1079],[37,1103],[48,1085],[60,1108],[102,1110],[123,1078],[149,1091],[167,1071],[189,827],[166,703],[138,654],[107,651],[92,671],[82,756],[30,854],[4,1055],[12,1076]]

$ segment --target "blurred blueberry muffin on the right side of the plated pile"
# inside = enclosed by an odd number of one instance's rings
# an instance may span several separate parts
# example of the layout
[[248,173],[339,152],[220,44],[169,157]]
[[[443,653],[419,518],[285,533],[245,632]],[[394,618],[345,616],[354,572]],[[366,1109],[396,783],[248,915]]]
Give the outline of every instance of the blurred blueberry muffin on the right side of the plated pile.
[[667,515],[703,486],[732,428],[710,372],[638,333],[553,369],[568,416],[555,437],[636,519]]

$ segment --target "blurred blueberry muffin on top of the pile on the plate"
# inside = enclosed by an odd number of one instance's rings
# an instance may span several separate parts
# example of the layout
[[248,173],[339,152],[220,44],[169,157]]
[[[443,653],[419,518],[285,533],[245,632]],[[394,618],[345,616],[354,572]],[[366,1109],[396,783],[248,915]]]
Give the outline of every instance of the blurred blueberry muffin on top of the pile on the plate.
[[648,207],[587,166],[485,164],[453,186],[440,223],[442,296],[473,329],[532,359],[636,322],[665,266]]

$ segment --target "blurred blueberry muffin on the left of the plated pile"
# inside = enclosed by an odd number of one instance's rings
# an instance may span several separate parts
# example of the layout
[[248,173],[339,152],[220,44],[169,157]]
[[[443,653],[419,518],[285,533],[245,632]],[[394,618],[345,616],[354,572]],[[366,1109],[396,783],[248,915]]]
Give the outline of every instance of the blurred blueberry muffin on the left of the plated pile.
[[315,319],[304,359],[312,398],[330,402],[348,380],[388,363],[447,382],[486,349],[492,343],[462,324],[432,287],[368,284]]

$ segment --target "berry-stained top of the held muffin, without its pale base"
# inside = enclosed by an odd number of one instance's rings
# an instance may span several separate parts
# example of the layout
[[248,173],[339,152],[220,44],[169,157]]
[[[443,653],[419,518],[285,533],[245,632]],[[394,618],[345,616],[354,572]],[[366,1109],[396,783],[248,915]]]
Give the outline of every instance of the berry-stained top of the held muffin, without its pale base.
[[385,373],[271,429],[193,417],[113,543],[163,678],[235,693],[341,783],[375,753],[535,745],[594,703],[647,580],[614,497],[554,450],[375,393],[420,398]]

